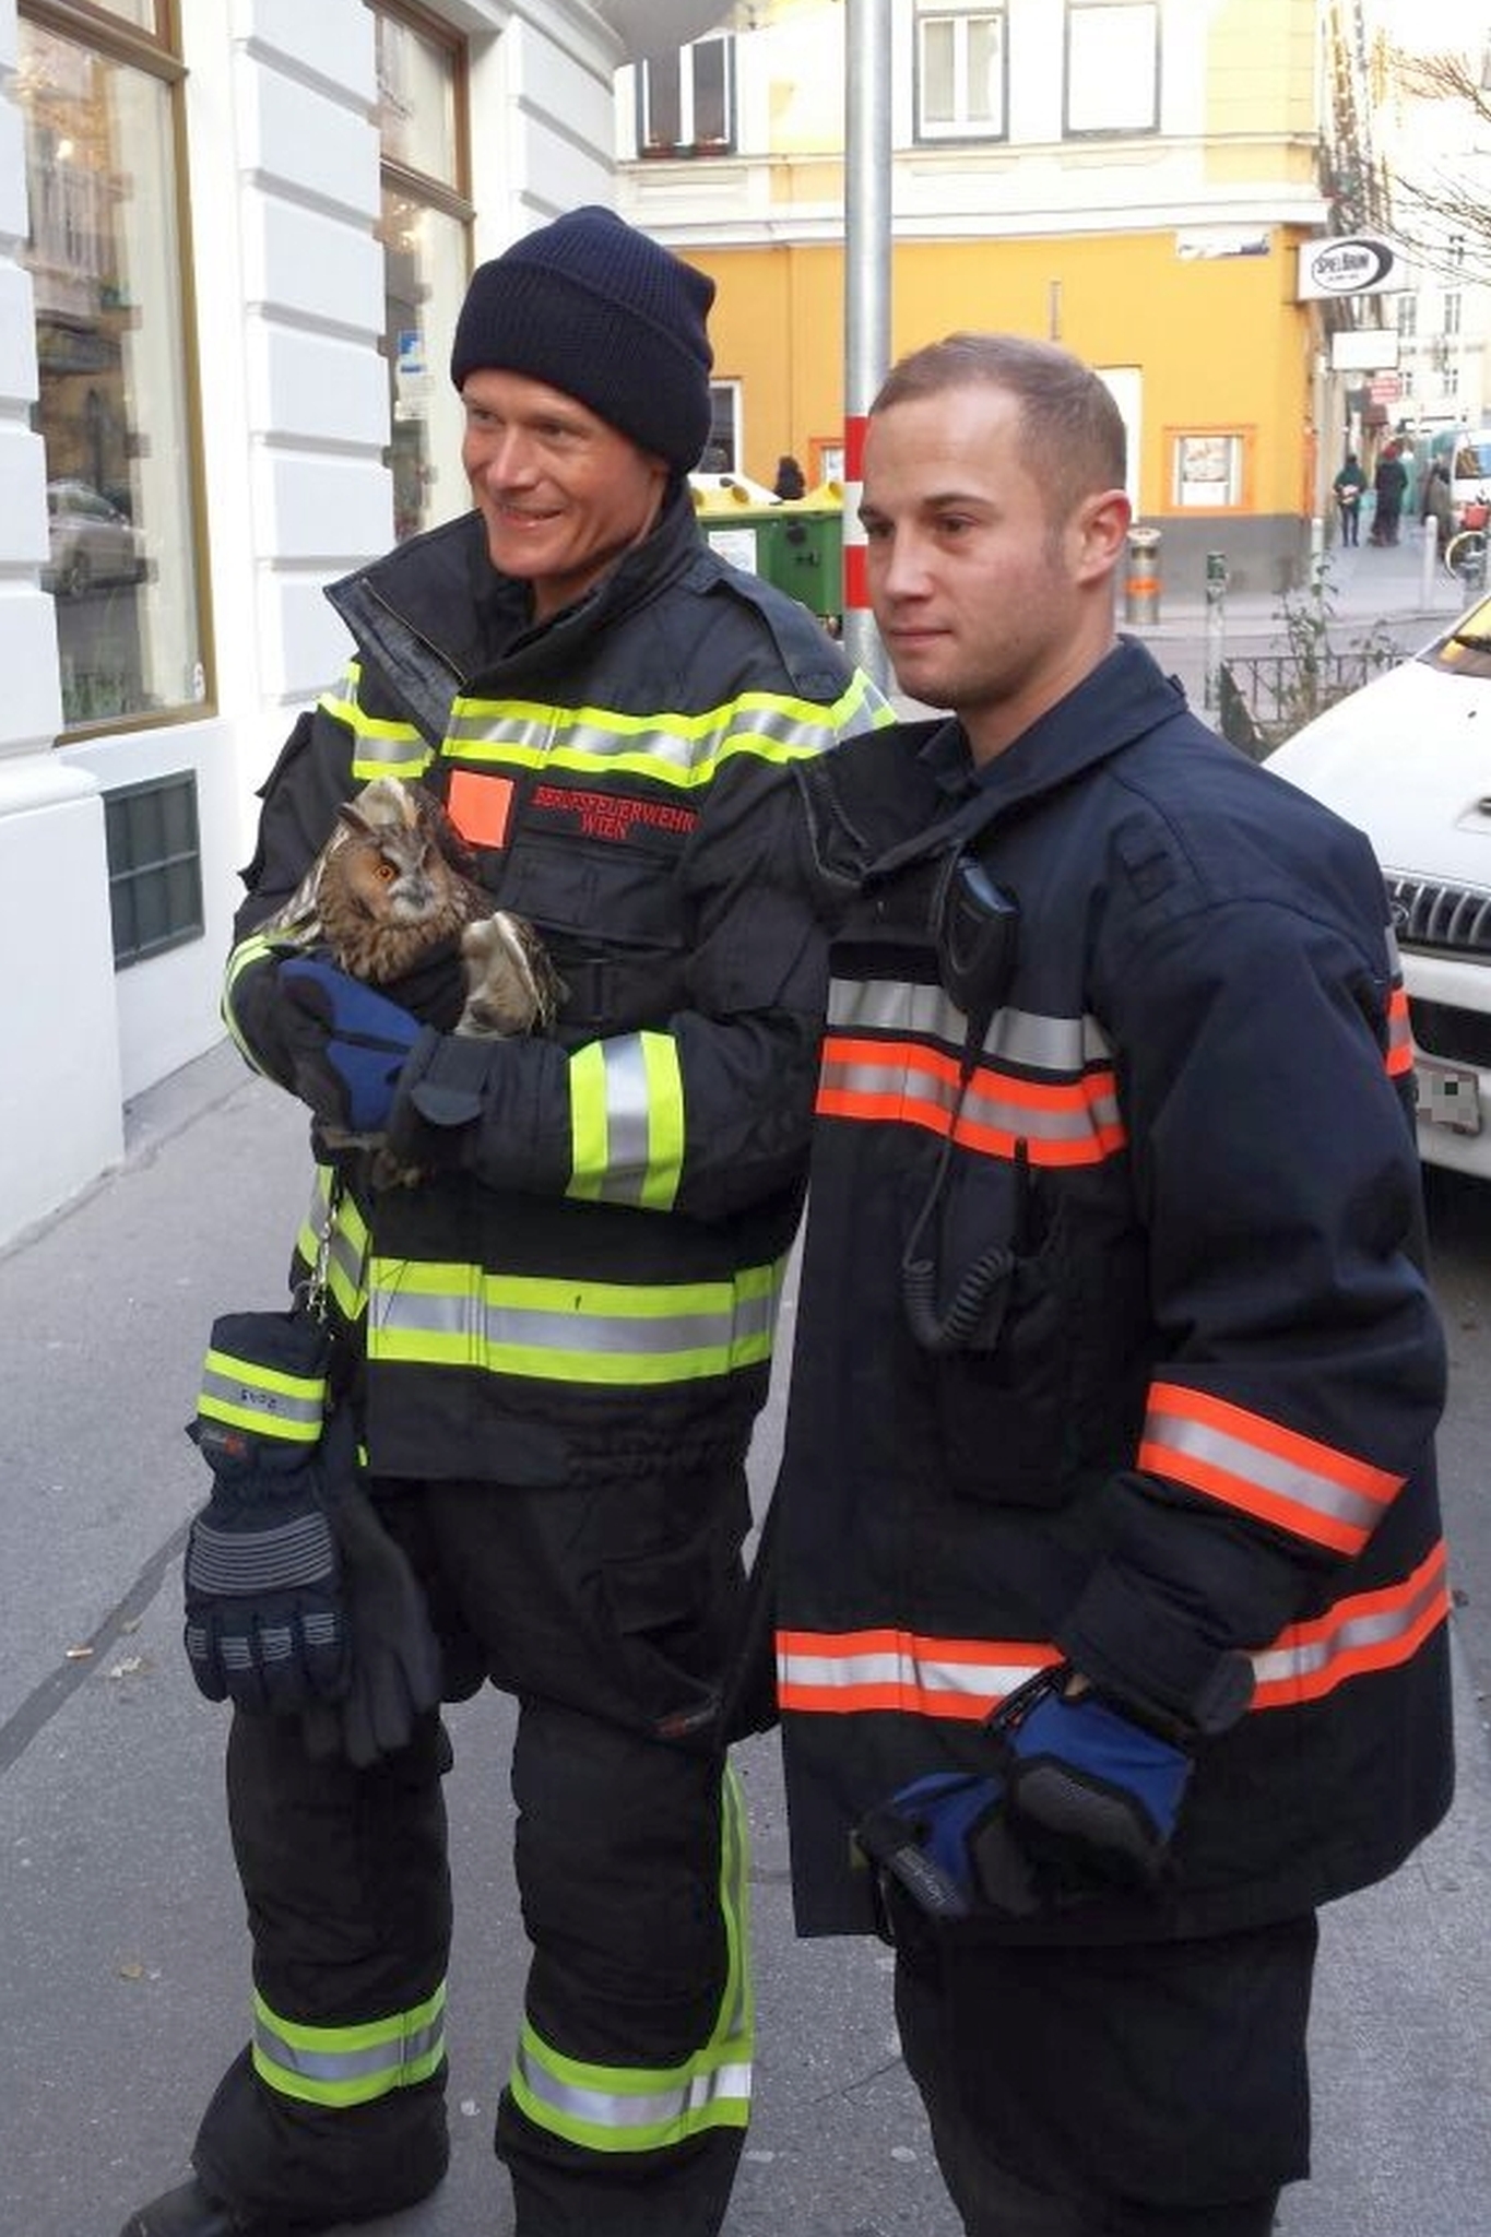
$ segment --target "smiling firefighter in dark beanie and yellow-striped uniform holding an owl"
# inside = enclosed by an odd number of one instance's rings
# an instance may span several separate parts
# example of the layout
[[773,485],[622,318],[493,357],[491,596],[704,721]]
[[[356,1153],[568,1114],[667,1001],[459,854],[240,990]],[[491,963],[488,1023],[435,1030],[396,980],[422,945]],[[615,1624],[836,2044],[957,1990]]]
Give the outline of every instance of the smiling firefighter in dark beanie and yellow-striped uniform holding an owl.
[[[744,1454],[825,991],[787,774],[890,709],[697,530],[711,300],[601,208],[476,271],[452,340],[472,510],[333,584],[353,658],[264,792],[224,1009],[308,1110],[297,1277],[326,1235],[333,1382],[414,1597],[371,1595],[349,1550],[342,1711],[232,1709],[253,2031],[192,2177],[123,2237],[308,2237],[445,2172],[452,1747],[411,1604],[445,1700],[514,1702],[523,1924],[478,1931],[525,1971],[523,2013],[456,2080],[507,2060],[516,2237],[724,2219],[751,2101]],[[447,1031],[456,953],[371,989],[275,944],[373,776],[431,790],[492,908],[536,926],[552,1031]],[[353,1130],[418,1181],[329,1148]],[[268,1658],[284,1617],[253,1613],[235,1635]]]

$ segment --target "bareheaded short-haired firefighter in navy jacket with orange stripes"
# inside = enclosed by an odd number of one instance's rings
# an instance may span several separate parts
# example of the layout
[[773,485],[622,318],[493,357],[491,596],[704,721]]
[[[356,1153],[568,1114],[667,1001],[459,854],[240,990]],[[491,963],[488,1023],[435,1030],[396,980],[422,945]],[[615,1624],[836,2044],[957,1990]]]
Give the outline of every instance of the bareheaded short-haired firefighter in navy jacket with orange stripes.
[[798,1926],[892,1942],[970,2237],[1267,2237],[1317,1906],[1453,1785],[1381,872],[1115,640],[1124,427],[1066,351],[901,360],[861,517],[901,689],[952,716],[803,774]]

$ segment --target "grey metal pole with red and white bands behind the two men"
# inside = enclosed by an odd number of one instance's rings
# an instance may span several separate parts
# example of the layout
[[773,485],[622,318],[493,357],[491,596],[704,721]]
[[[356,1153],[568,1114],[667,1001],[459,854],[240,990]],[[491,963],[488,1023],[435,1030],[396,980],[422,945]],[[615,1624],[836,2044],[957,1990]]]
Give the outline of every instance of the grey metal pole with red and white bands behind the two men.
[[890,0],[845,0],[845,651],[883,689],[858,526],[865,414],[890,367]]

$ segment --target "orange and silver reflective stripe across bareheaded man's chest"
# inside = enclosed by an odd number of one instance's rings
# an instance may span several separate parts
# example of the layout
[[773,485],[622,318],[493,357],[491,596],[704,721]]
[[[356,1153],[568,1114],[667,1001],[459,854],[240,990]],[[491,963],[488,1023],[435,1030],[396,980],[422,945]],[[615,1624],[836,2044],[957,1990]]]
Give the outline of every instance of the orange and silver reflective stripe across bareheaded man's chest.
[[1028,1080],[977,1065],[959,1092],[959,1063],[914,1040],[823,1042],[818,1116],[919,1125],[952,1134],[966,1150],[1013,1157],[1024,1143],[1033,1165],[1098,1165],[1122,1150],[1113,1067],[1066,1080]]

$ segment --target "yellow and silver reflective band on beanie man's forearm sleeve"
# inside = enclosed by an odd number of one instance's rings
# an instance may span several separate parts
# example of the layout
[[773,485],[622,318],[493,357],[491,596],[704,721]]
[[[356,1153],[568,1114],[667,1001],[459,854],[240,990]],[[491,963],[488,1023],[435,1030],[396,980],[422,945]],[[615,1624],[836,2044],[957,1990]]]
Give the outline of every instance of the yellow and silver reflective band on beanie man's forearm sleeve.
[[671,1033],[590,1040],[570,1058],[568,1197],[668,1212],[684,1165],[684,1076]]

